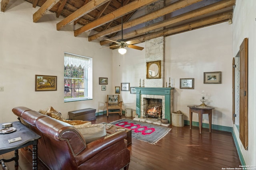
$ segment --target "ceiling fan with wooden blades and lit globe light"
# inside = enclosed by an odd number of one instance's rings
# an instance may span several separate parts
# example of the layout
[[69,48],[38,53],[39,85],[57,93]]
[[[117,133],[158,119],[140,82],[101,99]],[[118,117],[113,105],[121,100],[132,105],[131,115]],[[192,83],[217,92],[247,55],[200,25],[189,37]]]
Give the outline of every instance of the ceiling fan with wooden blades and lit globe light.
[[[123,6],[123,0],[122,0],[122,6]],[[118,39],[117,41],[113,41],[111,39],[106,39],[108,41],[112,41],[114,43],[116,43],[116,45],[112,45],[110,47],[116,47],[116,46],[120,46],[119,49],[118,49],[118,52],[120,54],[125,54],[126,53],[126,49],[124,47],[128,47],[128,48],[132,48],[132,49],[136,49],[136,50],[143,50],[144,47],[139,47],[139,46],[136,46],[136,45],[133,45],[133,44],[136,44],[136,43],[141,43],[140,40],[138,39],[135,39],[135,40],[131,40],[131,41],[126,41],[126,39],[123,39],[123,17],[121,18],[121,24],[122,24],[122,38],[121,39]]]

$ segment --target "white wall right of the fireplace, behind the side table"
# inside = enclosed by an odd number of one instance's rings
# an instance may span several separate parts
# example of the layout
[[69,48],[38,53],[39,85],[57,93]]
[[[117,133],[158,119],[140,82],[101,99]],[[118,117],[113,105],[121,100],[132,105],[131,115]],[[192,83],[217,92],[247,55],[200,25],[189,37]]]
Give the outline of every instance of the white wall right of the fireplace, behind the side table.
[[[232,25],[228,22],[166,37],[166,78],[174,80],[174,111],[205,104],[215,109],[212,124],[232,127]],[[221,84],[204,84],[204,72],[222,72]],[[194,78],[194,89],[180,89],[180,78]],[[198,121],[194,114],[193,121]],[[208,115],[203,115],[208,123]]]

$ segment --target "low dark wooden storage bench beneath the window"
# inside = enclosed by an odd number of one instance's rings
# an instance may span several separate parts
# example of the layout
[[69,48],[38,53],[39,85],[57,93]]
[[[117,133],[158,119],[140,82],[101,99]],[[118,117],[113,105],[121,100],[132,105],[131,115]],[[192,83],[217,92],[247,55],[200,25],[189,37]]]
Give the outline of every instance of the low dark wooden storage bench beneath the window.
[[96,112],[96,109],[92,109],[92,108],[69,111],[68,119],[83,120],[83,121],[94,120],[94,119],[96,119],[95,112]]

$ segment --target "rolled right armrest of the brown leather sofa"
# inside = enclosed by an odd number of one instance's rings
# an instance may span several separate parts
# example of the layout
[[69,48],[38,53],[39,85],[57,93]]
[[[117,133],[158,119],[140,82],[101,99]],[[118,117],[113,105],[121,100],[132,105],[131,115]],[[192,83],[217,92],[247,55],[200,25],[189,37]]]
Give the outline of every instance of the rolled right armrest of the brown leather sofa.
[[[102,150],[107,149],[108,147],[111,147],[112,145],[123,141],[127,137],[125,131],[118,131],[116,133],[112,133],[106,137],[101,137],[95,141],[92,141],[91,143],[88,143],[86,145],[86,149],[83,150],[79,155],[76,156],[79,162],[85,162],[95,156],[96,154],[100,153]],[[124,143],[124,148],[125,143]]]

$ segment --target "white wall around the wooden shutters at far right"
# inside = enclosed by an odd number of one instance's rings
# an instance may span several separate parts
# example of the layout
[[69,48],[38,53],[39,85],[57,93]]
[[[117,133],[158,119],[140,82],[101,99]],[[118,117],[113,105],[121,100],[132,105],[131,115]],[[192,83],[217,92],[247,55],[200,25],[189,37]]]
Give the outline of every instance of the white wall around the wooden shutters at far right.
[[233,17],[232,56],[239,51],[244,38],[248,38],[248,150],[245,150],[239,139],[239,131],[233,129],[246,165],[256,165],[256,1],[236,0]]

